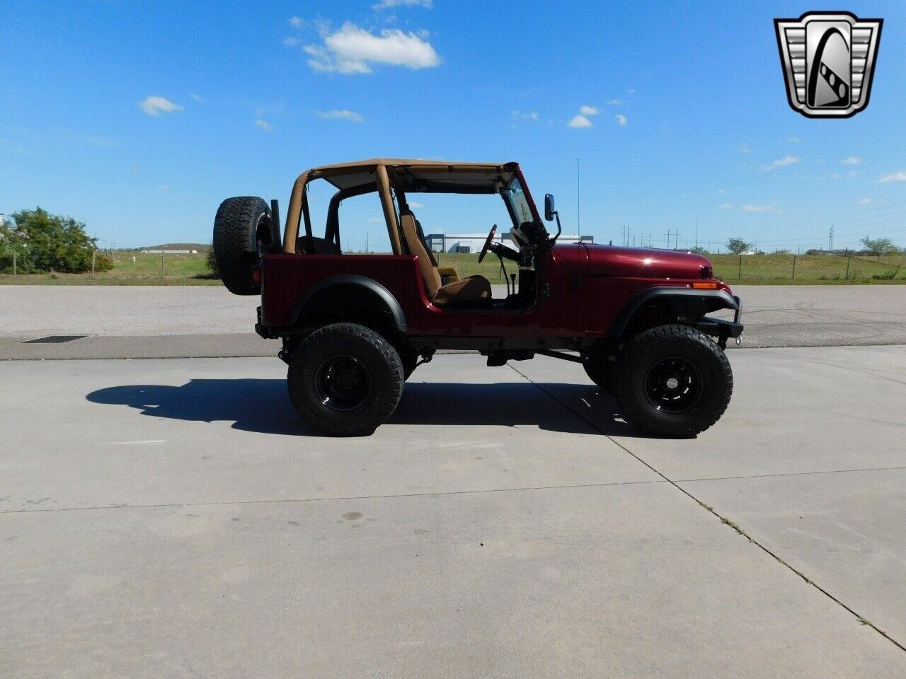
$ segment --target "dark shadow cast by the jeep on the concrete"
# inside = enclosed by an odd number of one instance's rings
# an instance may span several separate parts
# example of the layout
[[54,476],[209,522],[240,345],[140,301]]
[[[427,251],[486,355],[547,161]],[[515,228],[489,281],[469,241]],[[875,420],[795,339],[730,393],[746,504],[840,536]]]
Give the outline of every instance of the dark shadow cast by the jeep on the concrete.
[[[284,379],[191,379],[178,387],[123,385],[92,391],[86,398],[107,406],[130,406],[153,417],[233,422],[234,429],[260,434],[319,435],[296,414]],[[588,385],[413,381],[403,389],[388,424],[538,426],[565,434],[597,430],[639,435],[615,413],[612,398]]]

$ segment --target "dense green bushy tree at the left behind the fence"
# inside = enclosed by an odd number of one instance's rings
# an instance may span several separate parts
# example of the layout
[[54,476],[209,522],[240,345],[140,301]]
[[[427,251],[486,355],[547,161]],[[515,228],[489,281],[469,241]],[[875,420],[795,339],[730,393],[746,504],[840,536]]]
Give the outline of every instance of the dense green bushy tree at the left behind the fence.
[[[72,217],[51,215],[41,207],[20,210],[12,215],[13,225],[5,226],[3,239],[16,248],[18,265],[25,273],[53,271],[82,273],[92,268],[95,241],[85,225]],[[113,268],[110,258],[99,254],[95,271]]]

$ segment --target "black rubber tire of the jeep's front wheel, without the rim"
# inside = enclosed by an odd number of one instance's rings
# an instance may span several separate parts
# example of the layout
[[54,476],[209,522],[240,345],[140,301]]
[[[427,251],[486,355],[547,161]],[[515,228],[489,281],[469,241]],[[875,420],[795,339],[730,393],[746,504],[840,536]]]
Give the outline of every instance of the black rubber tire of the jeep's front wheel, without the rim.
[[[697,411],[694,424],[667,428],[651,419],[639,402],[631,397],[630,372],[633,365],[645,360],[645,355],[652,347],[677,342],[690,342],[699,345],[713,355],[718,361],[720,378],[726,389],[722,397],[715,399],[707,407]],[[660,325],[636,335],[626,344],[617,356],[613,370],[613,397],[620,408],[623,419],[641,431],[656,435],[694,436],[713,426],[724,414],[733,394],[733,371],[723,350],[707,335],[688,325]]]

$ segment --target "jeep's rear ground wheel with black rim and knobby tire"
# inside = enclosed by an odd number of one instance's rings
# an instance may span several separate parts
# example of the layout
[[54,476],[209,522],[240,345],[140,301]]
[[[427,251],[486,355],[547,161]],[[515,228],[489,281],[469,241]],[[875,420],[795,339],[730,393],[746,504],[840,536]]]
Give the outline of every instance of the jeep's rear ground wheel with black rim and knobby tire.
[[318,431],[370,435],[400,402],[400,355],[381,335],[354,323],[333,323],[303,339],[290,358],[289,397]]

